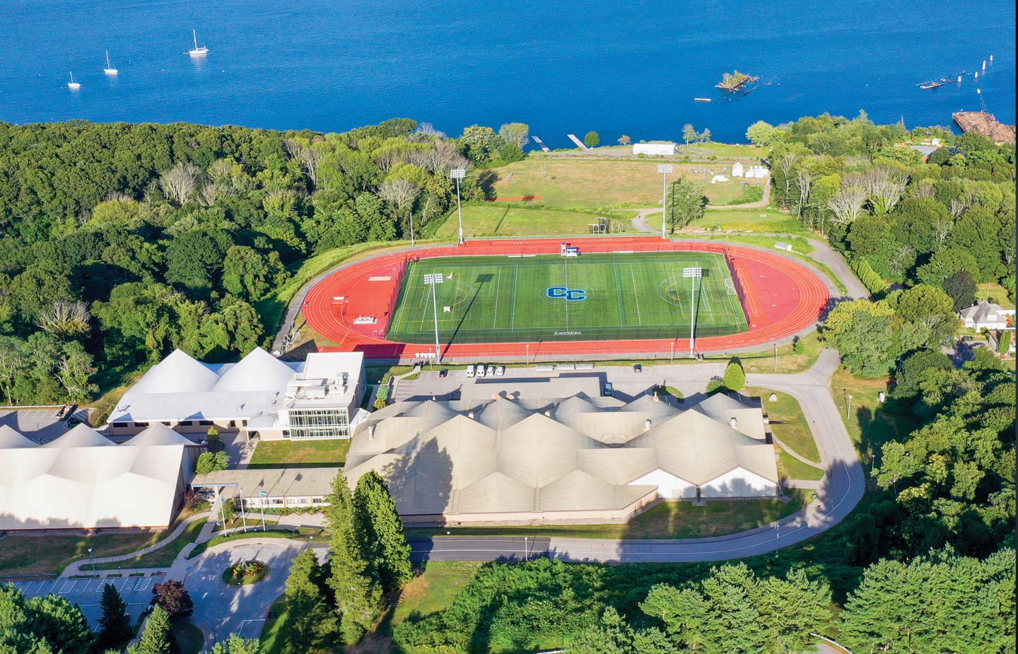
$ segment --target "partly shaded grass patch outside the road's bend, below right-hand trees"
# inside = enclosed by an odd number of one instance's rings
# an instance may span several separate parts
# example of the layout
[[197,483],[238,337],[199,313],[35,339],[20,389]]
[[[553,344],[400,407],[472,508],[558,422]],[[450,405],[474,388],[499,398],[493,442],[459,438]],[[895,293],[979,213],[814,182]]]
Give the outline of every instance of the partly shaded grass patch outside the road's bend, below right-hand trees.
[[[831,396],[863,461],[870,460],[888,440],[908,433],[914,426],[910,417],[888,413],[881,406],[878,393],[887,390],[887,383],[886,378],[859,379],[844,368],[831,378]],[[848,395],[852,396],[852,407],[846,417]]]

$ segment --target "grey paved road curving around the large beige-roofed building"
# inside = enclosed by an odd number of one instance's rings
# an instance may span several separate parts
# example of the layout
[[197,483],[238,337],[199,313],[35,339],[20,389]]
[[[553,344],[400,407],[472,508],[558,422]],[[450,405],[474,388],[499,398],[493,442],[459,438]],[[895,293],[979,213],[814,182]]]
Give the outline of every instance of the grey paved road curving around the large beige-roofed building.
[[[750,386],[766,386],[799,400],[828,470],[817,499],[776,524],[719,538],[684,540],[601,540],[586,538],[439,537],[414,540],[413,555],[432,560],[493,560],[547,555],[570,561],[714,561],[771,552],[802,542],[845,519],[862,498],[865,479],[829,383],[838,352],[825,349],[816,364],[796,375],[746,375]],[[690,376],[710,376],[685,366]]]

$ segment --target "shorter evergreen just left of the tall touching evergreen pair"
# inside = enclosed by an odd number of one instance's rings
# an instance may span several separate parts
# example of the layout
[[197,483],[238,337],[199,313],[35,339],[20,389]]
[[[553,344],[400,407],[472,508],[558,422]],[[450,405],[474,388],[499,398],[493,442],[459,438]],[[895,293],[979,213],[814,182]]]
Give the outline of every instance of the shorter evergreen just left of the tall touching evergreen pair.
[[293,559],[286,578],[286,606],[293,635],[290,645],[299,651],[329,647],[339,631],[339,620],[322,590],[324,581],[314,550],[305,549]]

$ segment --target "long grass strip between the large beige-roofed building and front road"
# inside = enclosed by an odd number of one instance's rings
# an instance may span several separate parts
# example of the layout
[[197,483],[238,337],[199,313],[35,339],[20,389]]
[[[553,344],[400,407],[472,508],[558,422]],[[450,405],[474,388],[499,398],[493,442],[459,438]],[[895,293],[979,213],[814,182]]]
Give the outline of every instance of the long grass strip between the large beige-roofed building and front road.
[[806,493],[788,489],[787,504],[777,499],[717,500],[706,506],[690,502],[662,502],[625,525],[550,525],[543,527],[410,528],[409,537],[443,536],[554,536],[564,538],[703,538],[737,534],[766,525],[805,506]]

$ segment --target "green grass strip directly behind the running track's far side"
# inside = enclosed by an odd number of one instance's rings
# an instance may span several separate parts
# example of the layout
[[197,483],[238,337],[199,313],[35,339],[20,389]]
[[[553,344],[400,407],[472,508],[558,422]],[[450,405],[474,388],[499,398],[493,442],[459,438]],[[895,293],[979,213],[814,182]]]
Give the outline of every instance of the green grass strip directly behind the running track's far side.
[[[538,201],[544,203],[544,201]],[[467,204],[463,206],[463,233],[467,236],[543,236],[549,234],[589,235],[591,223],[612,219],[611,229],[632,231],[632,210],[605,210],[584,213],[562,209],[530,208],[516,203]],[[459,233],[459,219],[453,210],[437,235]]]

